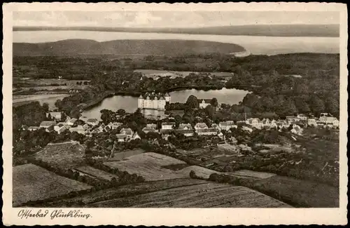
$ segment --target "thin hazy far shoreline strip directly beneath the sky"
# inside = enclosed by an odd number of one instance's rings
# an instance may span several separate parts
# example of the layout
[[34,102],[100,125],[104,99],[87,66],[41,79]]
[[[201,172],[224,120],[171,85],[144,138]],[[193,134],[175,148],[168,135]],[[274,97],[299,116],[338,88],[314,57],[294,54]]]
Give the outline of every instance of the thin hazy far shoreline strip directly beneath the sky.
[[339,25],[233,25],[197,28],[13,27],[13,31],[82,30],[99,32],[159,32],[235,36],[339,36]]

